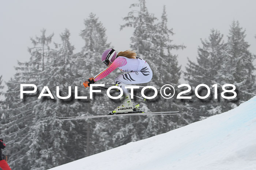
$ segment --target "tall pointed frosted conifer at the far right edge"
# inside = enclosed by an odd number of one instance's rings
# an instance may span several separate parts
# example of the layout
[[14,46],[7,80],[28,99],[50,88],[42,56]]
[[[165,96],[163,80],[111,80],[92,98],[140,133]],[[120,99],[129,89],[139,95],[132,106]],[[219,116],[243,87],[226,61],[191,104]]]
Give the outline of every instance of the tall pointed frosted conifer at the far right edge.
[[236,86],[239,99],[236,103],[240,104],[255,95],[252,88],[255,84],[253,61],[256,56],[249,51],[250,45],[245,40],[245,29],[240,27],[238,21],[232,22],[227,37],[227,55],[223,61],[225,74],[221,80],[222,84],[231,83]]

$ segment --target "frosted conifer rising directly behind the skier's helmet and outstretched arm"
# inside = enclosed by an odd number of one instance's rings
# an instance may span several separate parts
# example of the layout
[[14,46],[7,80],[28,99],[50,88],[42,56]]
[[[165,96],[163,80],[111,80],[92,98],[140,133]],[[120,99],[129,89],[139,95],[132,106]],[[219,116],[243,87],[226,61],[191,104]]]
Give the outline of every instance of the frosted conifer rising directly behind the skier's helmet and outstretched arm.
[[74,62],[76,67],[83,70],[78,72],[81,72],[79,77],[85,79],[96,75],[105,68],[103,64],[99,64],[101,63],[101,55],[111,46],[110,43],[107,43],[106,28],[103,27],[95,14],[90,13],[89,17],[84,20],[84,26],[80,36],[84,39],[85,45],[75,57]]

